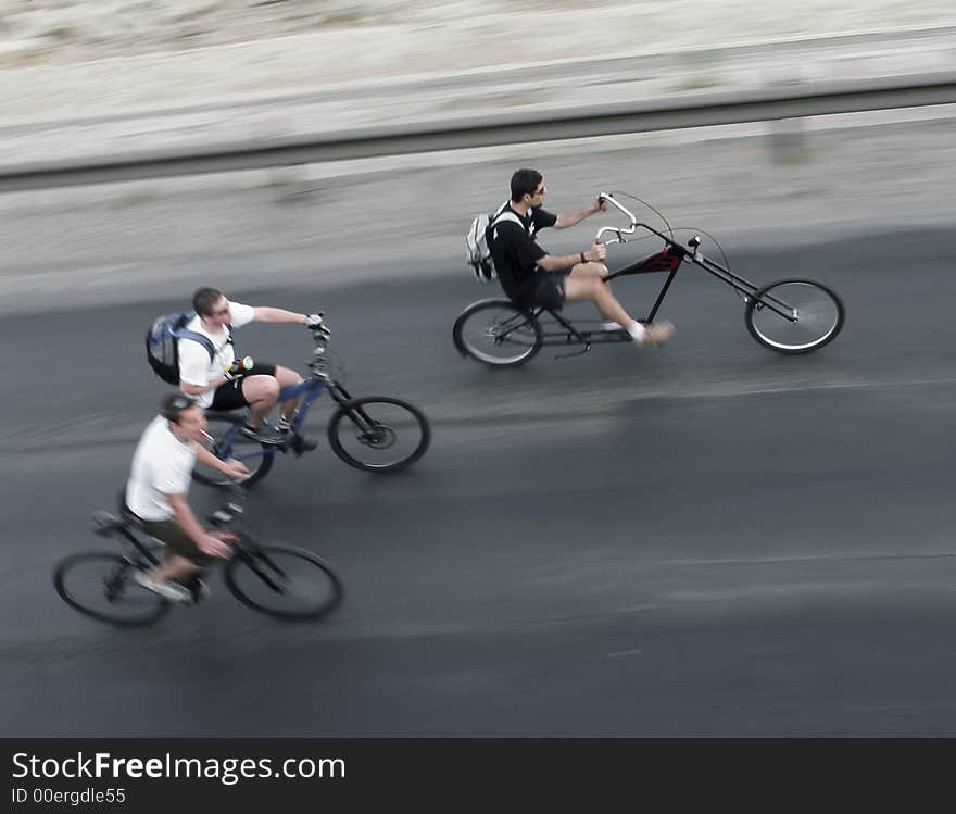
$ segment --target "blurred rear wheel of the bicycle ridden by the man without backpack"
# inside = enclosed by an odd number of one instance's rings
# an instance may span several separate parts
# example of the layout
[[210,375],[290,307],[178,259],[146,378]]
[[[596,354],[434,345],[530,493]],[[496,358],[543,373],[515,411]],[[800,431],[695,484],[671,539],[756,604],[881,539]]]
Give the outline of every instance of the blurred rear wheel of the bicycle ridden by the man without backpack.
[[141,587],[136,566],[120,554],[90,551],[61,560],[53,571],[56,593],[80,613],[123,627],[151,625],[169,602]]

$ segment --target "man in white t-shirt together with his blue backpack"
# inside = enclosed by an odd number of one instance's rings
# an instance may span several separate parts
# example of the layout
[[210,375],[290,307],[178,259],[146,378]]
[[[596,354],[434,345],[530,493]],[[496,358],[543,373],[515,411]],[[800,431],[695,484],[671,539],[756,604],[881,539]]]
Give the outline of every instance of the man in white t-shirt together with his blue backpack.
[[[251,322],[289,323],[313,328],[322,325],[318,314],[299,314],[279,308],[230,302],[215,288],[200,288],[192,297],[193,314],[161,316],[147,334],[148,359],[166,381],[178,384],[199,406],[215,411],[248,408],[243,434],[264,443],[281,437],[264,429],[265,416],[278,401],[279,390],[301,380],[288,367],[236,359],[232,331]],[[279,431],[289,430],[298,399],[279,405]],[[300,439],[304,450],[314,441]]]

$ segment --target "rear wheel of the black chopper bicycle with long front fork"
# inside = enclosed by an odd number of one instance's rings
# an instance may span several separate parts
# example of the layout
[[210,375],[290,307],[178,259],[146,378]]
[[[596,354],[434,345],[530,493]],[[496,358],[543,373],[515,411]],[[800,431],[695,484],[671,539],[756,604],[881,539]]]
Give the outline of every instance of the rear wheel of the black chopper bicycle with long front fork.
[[544,342],[538,321],[507,300],[485,300],[455,320],[458,351],[491,367],[514,367],[532,359]]

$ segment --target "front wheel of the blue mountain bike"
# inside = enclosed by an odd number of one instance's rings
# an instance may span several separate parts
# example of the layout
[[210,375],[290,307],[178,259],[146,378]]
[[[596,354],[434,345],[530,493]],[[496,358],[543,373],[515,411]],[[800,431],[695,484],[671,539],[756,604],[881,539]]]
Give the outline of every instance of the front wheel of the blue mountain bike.
[[332,451],[365,472],[399,472],[428,449],[431,428],[418,408],[388,396],[351,399],[328,424]]

